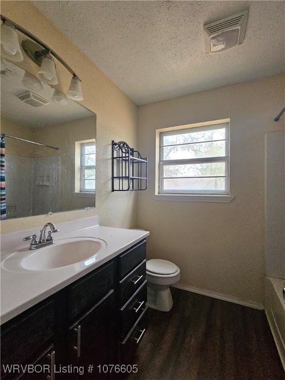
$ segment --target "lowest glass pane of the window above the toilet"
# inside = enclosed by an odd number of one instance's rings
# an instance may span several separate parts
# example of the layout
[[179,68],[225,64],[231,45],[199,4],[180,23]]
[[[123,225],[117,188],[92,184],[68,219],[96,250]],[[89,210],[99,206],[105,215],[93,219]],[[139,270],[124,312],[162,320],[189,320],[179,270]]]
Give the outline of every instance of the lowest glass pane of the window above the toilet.
[[172,178],[162,181],[164,191],[225,191],[225,178]]

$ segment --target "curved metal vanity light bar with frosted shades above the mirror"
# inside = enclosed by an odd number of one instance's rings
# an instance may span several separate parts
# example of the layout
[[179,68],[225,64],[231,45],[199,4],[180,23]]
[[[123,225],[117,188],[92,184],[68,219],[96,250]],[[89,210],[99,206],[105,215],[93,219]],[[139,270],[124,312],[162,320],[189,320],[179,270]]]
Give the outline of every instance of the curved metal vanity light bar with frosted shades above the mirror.
[[[40,66],[40,70],[37,74],[38,79],[43,83],[49,85],[56,85],[58,83],[55,62],[53,58],[56,58],[71,74],[72,79],[70,83],[67,96],[70,99],[79,101],[83,100],[81,79],[72,70],[72,68],[50,47],[44,44],[37,37],[26,31],[19,25],[15,24],[11,20],[0,15],[3,22],[1,25],[1,55],[11,61],[22,61],[23,54],[19,45],[18,35],[16,30],[26,35],[29,39],[22,41],[22,47],[25,53],[30,59],[32,59],[37,65]],[[7,29],[9,28],[9,29]],[[3,37],[4,36],[4,37]],[[17,44],[16,44],[17,42]],[[35,88],[33,88],[35,90]],[[55,100],[55,99],[54,99]]]

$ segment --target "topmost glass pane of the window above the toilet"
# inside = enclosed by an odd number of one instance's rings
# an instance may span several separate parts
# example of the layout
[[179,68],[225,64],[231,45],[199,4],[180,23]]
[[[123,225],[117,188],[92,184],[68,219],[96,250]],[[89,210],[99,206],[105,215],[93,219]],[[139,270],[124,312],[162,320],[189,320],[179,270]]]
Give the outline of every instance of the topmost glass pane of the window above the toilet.
[[162,145],[169,144],[185,144],[189,142],[199,142],[199,141],[211,141],[211,140],[223,140],[226,138],[226,129],[212,129],[209,131],[199,131],[199,132],[188,132],[182,134],[163,136]]

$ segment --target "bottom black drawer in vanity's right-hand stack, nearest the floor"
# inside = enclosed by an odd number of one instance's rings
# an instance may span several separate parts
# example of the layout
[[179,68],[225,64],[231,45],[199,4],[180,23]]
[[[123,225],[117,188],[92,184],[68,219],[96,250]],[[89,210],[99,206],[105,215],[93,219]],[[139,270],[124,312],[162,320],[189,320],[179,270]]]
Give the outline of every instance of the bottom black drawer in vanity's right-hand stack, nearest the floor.
[[120,362],[128,364],[134,357],[136,349],[140,344],[144,333],[148,326],[148,309],[144,309],[141,317],[137,321],[136,325],[126,336],[125,340],[121,343],[120,349]]

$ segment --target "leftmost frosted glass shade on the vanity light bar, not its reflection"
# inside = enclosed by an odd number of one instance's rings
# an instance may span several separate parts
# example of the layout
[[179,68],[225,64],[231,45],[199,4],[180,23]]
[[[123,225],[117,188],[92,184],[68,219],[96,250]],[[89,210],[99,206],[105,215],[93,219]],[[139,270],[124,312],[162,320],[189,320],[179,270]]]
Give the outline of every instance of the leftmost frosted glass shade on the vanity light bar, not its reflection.
[[17,32],[13,25],[6,22],[1,25],[1,56],[13,62],[24,59]]

